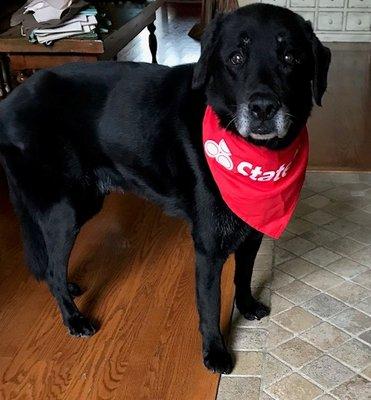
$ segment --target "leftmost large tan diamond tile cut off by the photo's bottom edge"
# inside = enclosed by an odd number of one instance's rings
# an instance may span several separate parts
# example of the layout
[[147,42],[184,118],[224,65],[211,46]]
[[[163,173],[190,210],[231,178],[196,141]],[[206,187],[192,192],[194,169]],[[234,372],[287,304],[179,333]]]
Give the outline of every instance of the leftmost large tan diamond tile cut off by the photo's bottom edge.
[[267,391],[277,400],[313,400],[323,393],[318,386],[296,373],[274,383]]

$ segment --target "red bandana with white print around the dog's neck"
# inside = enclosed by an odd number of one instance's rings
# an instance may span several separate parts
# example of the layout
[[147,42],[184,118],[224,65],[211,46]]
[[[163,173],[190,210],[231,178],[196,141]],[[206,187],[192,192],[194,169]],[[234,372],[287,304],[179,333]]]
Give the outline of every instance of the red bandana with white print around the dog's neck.
[[203,143],[211,173],[227,206],[248,225],[278,239],[299,201],[308,162],[308,132],[286,148],[255,146],[219,125],[208,106]]

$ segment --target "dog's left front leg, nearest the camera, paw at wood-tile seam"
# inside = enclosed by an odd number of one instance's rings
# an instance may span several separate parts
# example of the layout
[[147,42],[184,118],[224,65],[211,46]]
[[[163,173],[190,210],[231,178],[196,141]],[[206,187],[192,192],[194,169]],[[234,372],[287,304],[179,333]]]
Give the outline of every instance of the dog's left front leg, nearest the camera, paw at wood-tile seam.
[[233,363],[220,332],[220,278],[226,256],[198,250],[196,246],[196,291],[205,366],[229,374]]

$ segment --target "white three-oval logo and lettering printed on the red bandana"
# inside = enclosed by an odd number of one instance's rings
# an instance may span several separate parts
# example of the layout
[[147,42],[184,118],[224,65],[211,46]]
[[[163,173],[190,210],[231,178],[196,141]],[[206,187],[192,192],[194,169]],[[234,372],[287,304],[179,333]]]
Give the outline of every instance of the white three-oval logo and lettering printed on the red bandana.
[[[229,171],[233,170],[232,153],[229,150],[227,143],[222,139],[219,143],[214,140],[207,140],[204,144],[206,155],[215,160]],[[298,150],[295,152],[293,159],[297,155]],[[248,161],[241,161],[237,165],[237,172],[241,175],[247,176],[253,181],[267,182],[267,181],[278,181],[287,175],[290,169],[292,161],[287,164],[282,164],[277,170],[263,171],[263,168],[259,165],[253,165]]]

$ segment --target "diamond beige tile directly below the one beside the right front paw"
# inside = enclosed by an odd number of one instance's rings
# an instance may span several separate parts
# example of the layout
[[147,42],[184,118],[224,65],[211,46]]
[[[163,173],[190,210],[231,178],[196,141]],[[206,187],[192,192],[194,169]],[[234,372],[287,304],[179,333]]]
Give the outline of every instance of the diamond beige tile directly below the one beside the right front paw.
[[281,344],[271,353],[294,368],[300,368],[322,354],[320,350],[298,337]]

